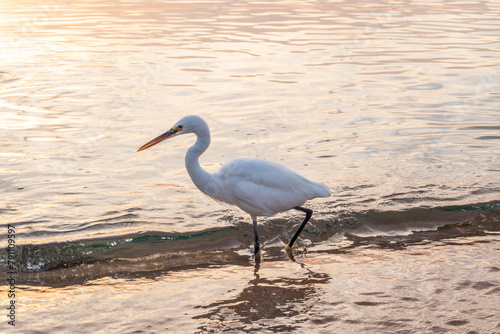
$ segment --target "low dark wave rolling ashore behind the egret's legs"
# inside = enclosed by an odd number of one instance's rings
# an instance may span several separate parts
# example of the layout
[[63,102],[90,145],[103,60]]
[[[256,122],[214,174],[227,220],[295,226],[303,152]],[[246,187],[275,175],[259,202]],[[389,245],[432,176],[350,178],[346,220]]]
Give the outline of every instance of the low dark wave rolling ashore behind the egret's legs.
[[[346,248],[361,245],[401,248],[419,242],[494,234],[500,231],[499,218],[500,202],[402,211],[346,211],[331,219],[311,220],[301,237],[335,252],[344,247],[336,244],[337,236],[351,242]],[[264,249],[279,254],[298,223],[282,217],[261,224]],[[170,265],[183,263],[182,257],[231,257],[239,250],[249,249],[252,242],[252,225],[245,222],[194,233],[146,231],[99,239],[19,244],[15,263],[19,272],[47,272],[85,265],[97,265],[106,272],[106,265],[113,263],[115,269],[126,265],[125,272],[131,273],[157,270],[158,261],[162,270],[168,270]],[[6,249],[0,253],[2,269],[7,267],[7,255]]]

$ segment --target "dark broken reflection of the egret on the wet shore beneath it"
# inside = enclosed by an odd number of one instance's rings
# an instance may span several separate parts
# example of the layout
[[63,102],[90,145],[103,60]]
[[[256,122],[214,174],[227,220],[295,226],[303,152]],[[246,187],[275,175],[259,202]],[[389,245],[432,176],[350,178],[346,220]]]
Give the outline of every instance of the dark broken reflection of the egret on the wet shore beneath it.
[[[291,259],[295,260],[293,255]],[[198,328],[200,333],[255,331],[259,328],[290,332],[308,319],[308,311],[325,291],[321,285],[327,284],[331,277],[298,263],[301,269],[291,271],[290,277],[267,278],[273,271],[272,266],[265,264],[261,268],[261,262],[255,261],[254,279],[235,297],[199,306],[207,310],[205,314],[194,317],[206,319],[206,323]]]

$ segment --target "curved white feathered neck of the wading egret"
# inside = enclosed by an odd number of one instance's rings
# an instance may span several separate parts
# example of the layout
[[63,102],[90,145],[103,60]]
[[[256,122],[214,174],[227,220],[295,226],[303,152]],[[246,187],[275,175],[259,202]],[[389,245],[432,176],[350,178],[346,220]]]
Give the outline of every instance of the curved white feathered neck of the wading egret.
[[186,169],[198,189],[210,197],[217,193],[218,182],[215,176],[208,173],[200,166],[198,158],[210,145],[210,130],[208,126],[201,127],[195,132],[196,143],[191,146],[186,153]]

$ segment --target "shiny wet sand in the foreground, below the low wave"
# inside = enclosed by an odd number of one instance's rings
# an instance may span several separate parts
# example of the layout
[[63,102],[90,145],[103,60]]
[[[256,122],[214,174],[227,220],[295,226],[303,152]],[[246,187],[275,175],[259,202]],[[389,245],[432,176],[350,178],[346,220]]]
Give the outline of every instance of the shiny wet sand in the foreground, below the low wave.
[[499,250],[496,234],[400,250],[319,245],[294,262],[264,252],[258,266],[240,250],[157,276],[19,286],[13,332],[498,333]]

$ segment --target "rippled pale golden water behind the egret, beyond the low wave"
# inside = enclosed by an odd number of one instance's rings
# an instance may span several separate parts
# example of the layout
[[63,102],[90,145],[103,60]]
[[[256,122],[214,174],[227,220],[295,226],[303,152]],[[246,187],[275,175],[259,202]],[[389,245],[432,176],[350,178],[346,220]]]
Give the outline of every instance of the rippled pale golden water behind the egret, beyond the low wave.
[[[184,172],[190,139],[135,153],[189,113],[212,128],[202,158],[210,171],[242,156],[286,163],[335,193],[366,186],[349,199],[353,209],[488,201],[498,181],[497,10],[3,3],[0,154],[12,166],[3,182],[17,209],[11,220],[90,227],[128,206],[148,225],[182,229],[163,217],[186,216],[193,203],[220,219],[224,210]],[[415,188],[422,195],[402,204],[380,200]],[[472,195],[478,189],[489,190]],[[31,198],[46,210],[34,212]]]

